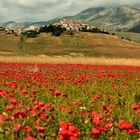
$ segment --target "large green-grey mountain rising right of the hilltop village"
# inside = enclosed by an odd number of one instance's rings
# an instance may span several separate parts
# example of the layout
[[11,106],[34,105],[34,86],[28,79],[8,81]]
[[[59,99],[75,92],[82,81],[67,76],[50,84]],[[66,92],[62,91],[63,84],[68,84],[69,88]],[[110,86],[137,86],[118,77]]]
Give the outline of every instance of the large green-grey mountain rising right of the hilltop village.
[[140,22],[140,9],[130,6],[93,7],[73,18],[108,30],[127,31]]

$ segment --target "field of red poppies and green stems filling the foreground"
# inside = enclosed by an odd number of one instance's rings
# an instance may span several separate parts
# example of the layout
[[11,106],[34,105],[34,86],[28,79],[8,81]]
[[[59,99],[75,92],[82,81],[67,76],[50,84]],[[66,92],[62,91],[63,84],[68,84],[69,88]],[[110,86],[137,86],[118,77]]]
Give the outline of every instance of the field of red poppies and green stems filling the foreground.
[[0,140],[138,140],[140,67],[0,62]]

